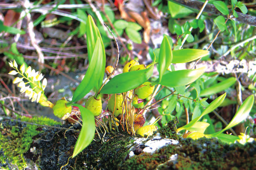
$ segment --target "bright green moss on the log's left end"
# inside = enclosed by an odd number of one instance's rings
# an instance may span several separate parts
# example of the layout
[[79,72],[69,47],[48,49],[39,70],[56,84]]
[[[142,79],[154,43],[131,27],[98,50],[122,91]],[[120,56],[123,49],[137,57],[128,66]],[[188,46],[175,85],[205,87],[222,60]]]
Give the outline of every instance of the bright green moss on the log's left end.
[[[60,124],[46,117],[18,117],[21,121],[36,123],[40,125]],[[36,125],[21,123],[14,120],[2,121],[0,124],[0,166],[6,169],[22,169],[26,167],[23,156],[30,149],[32,137],[38,135],[42,130]]]

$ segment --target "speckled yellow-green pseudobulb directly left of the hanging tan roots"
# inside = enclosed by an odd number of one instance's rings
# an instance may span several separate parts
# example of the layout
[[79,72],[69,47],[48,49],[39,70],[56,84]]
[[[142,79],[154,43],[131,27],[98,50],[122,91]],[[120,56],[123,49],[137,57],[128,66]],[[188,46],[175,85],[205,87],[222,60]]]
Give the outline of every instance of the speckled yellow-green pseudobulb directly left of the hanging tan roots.
[[[116,100],[116,105],[115,105]],[[111,111],[114,116],[118,117],[122,114],[122,102],[123,102],[122,94],[113,94],[108,102],[108,109]]]

